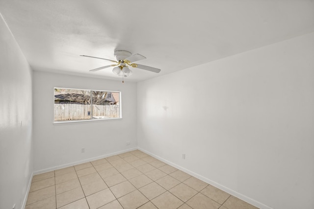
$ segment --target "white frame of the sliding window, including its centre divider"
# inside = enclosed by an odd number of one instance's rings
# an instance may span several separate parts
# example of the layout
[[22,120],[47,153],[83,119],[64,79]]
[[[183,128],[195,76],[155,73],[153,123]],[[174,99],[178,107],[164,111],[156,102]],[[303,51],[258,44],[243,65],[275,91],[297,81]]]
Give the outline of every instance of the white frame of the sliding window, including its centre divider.
[[[89,91],[91,93],[91,103],[90,103],[90,107],[91,107],[91,119],[81,119],[81,120],[60,120],[60,121],[55,121],[54,120],[54,90],[55,89],[69,89],[69,90],[83,90],[83,91]],[[93,119],[93,97],[92,97],[92,92],[110,92],[110,93],[119,93],[119,117],[110,117],[110,118],[94,118]],[[64,87],[53,87],[53,118],[52,118],[52,123],[53,124],[64,124],[64,123],[84,123],[84,122],[97,122],[97,121],[106,121],[106,120],[119,120],[122,119],[122,102],[121,102],[121,92],[120,91],[106,91],[106,90],[91,90],[91,89],[76,89],[76,88],[64,88]]]

